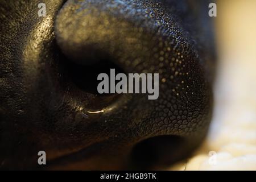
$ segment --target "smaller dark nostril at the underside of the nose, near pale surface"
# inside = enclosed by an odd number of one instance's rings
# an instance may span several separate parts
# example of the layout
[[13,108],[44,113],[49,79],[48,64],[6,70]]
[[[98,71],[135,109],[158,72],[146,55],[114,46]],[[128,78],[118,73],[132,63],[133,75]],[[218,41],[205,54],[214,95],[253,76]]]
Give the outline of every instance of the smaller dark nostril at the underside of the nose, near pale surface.
[[139,142],[131,152],[133,168],[164,167],[179,160],[184,140],[176,135],[162,135]]

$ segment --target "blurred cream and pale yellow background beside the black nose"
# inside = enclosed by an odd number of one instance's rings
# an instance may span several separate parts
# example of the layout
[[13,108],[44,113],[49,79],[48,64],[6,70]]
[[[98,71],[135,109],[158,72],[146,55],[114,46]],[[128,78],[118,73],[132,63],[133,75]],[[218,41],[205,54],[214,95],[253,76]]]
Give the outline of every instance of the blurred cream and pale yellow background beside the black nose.
[[218,68],[208,138],[171,170],[256,170],[256,1],[217,1]]

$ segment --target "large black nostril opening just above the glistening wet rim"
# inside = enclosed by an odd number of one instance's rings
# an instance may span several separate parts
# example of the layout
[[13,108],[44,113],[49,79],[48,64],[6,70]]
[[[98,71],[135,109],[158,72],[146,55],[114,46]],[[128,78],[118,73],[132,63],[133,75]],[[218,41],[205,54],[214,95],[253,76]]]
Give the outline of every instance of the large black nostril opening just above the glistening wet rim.
[[110,77],[112,68],[117,73],[123,73],[110,57],[106,56],[105,59],[98,59],[97,62],[92,61],[91,64],[84,65],[69,59],[59,50],[59,60],[57,72],[61,75],[60,86],[70,96],[80,100],[84,106],[88,107],[87,109],[102,109],[113,104],[121,96],[121,94],[100,94],[97,90],[100,82],[97,77],[100,73],[106,73]]

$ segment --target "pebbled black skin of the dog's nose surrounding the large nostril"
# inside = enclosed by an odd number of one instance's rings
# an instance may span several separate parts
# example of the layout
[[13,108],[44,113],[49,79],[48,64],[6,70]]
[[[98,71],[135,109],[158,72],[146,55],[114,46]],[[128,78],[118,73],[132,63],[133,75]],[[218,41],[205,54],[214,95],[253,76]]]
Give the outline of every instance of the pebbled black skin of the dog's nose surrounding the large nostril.
[[[0,13],[14,22],[3,23],[13,34],[1,28],[1,168],[155,169],[200,144],[212,114],[207,3],[46,5],[46,18],[28,16],[35,1],[4,2]],[[8,7],[23,11],[22,18]],[[20,31],[24,35],[15,36]],[[73,84],[69,65],[89,72],[102,61],[125,73],[159,73],[158,100],[144,94],[106,99]],[[40,150],[47,166],[37,164]]]

